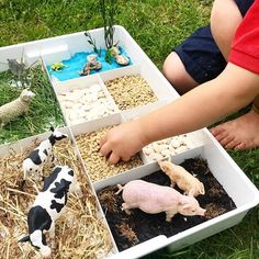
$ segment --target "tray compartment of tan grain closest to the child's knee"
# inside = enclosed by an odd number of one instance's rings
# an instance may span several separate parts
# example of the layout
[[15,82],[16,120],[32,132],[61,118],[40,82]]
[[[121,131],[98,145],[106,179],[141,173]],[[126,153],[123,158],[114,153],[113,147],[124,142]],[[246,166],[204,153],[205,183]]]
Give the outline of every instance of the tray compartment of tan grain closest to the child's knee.
[[156,71],[146,66],[133,65],[100,74],[120,110],[131,110],[178,97],[167,88],[164,89]]

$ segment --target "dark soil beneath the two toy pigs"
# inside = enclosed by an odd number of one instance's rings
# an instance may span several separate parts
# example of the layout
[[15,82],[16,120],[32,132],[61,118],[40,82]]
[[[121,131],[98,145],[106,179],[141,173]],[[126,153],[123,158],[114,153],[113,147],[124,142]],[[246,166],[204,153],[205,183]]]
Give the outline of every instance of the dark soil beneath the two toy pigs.
[[[101,206],[120,251],[148,240],[158,235],[173,236],[210,218],[236,209],[233,200],[213,177],[205,160],[201,158],[187,159],[181,164],[190,173],[203,182],[205,195],[198,196],[201,207],[206,209],[205,216],[182,216],[177,214],[171,222],[166,222],[166,214],[147,214],[138,209],[131,210],[127,215],[121,210],[122,192],[115,195],[117,187],[108,187],[98,193]],[[145,181],[160,185],[170,185],[169,178],[161,171],[156,171],[142,178]],[[182,193],[180,189],[176,187]]]

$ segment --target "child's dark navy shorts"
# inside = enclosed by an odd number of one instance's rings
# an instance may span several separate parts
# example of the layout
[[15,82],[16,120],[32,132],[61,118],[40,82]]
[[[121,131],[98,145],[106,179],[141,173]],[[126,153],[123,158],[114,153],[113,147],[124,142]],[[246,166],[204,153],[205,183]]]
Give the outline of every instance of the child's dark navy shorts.
[[[244,16],[254,0],[235,0]],[[226,66],[211,33],[211,26],[201,27],[173,49],[189,75],[199,83],[217,77]]]

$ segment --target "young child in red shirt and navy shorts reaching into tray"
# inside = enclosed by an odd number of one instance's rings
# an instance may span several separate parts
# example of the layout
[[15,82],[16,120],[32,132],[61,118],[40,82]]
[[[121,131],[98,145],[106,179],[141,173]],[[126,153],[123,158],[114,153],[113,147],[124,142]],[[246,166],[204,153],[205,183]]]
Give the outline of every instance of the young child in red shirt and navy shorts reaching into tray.
[[110,156],[113,164],[127,161],[151,142],[209,126],[251,102],[248,114],[212,128],[212,133],[226,148],[259,146],[259,0],[252,2],[214,2],[211,33],[210,27],[199,30],[164,65],[173,87],[187,93],[112,128],[101,140],[103,156]]

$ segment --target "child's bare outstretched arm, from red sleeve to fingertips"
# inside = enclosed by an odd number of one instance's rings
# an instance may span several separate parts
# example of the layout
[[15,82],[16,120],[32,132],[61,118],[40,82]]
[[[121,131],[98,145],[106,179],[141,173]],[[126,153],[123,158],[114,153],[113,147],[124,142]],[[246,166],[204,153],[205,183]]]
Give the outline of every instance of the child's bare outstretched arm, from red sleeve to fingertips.
[[259,75],[228,63],[215,79],[138,120],[112,128],[101,154],[126,161],[145,145],[209,126],[246,106],[259,94]]

